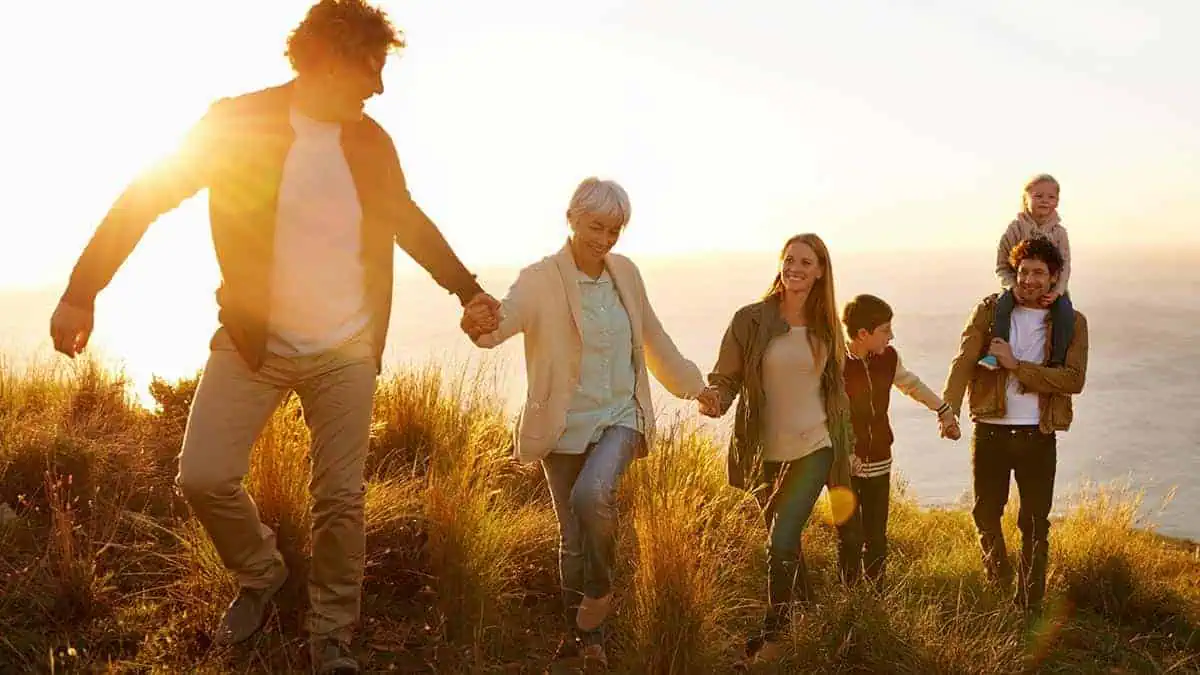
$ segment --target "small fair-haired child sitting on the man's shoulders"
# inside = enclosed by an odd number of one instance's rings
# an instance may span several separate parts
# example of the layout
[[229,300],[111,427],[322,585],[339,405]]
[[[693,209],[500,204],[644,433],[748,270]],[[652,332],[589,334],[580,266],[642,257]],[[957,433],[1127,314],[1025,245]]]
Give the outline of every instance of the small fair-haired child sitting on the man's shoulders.
[[[996,300],[996,321],[992,327],[992,339],[1008,341],[1013,317],[1013,285],[1016,283],[1016,270],[1009,263],[1013,246],[1034,237],[1049,239],[1062,256],[1062,271],[1058,283],[1042,297],[1042,306],[1050,307],[1051,335],[1050,359],[1046,365],[1061,366],[1067,358],[1067,345],[1070,344],[1075,328],[1075,310],[1067,294],[1067,279],[1070,276],[1070,240],[1067,228],[1058,219],[1058,181],[1048,173],[1033,177],[1025,184],[1021,192],[1021,213],[1008,225],[996,247],[996,276],[1004,292]],[[1000,368],[996,357],[988,354],[979,359],[979,365],[995,370]]]

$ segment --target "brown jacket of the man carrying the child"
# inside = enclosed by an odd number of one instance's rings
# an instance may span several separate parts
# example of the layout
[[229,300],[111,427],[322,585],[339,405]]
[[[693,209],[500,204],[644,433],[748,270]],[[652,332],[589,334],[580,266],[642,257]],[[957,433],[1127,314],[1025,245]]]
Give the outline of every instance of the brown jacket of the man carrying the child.
[[[1003,417],[1008,398],[1006,388],[1009,377],[1016,377],[1022,392],[1037,392],[1040,396],[1042,431],[1066,431],[1074,417],[1070,396],[1084,390],[1087,375],[1087,318],[1075,312],[1075,335],[1067,347],[1067,359],[1062,368],[1021,362],[1014,371],[989,370],[977,362],[986,353],[991,341],[991,324],[996,316],[998,294],[984,298],[971,312],[962,329],[959,353],[950,363],[942,399],[959,416],[962,396],[970,390],[971,419]],[[1046,323],[1050,315],[1046,315]],[[1046,357],[1050,356],[1046,342]]]

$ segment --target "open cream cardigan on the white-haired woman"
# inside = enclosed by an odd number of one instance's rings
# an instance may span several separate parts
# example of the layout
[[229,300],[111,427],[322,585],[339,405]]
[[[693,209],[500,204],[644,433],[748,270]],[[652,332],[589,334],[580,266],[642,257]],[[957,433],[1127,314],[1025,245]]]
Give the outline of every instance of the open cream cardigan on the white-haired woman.
[[[646,295],[637,265],[624,256],[610,253],[605,268],[634,331],[634,398],[646,431],[638,456],[644,456],[654,446],[654,406],[647,368],[680,399],[695,399],[704,388],[704,378],[662,329]],[[578,384],[581,300],[575,270],[570,246],[522,269],[500,303],[499,328],[475,340],[475,345],[492,348],[524,333],[528,392],[512,434],[512,454],[521,462],[538,461],[554,449],[566,426],[566,410]]]

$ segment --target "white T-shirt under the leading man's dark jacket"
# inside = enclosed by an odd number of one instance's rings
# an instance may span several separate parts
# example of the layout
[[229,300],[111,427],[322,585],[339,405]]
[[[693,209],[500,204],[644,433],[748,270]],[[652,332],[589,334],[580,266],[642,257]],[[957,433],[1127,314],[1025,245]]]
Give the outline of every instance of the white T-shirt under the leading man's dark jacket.
[[271,269],[269,348],[299,356],[336,347],[368,323],[362,205],[342,127],[292,110]]

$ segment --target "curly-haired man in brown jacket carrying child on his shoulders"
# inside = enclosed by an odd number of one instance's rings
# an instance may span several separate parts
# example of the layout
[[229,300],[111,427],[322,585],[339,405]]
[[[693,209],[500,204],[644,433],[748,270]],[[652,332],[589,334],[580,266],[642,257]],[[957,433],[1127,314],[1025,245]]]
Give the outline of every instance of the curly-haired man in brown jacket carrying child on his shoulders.
[[[1016,479],[1021,508],[1021,556],[1014,602],[1037,613],[1045,596],[1049,561],[1050,508],[1057,465],[1056,434],[1070,429],[1072,396],[1084,390],[1087,377],[1087,319],[1073,311],[1074,327],[1062,368],[1052,368],[1052,318],[1040,303],[1054,288],[1063,268],[1058,249],[1045,238],[1025,239],[1009,255],[1016,270],[1009,317],[1009,340],[991,339],[996,321],[994,293],[980,301],[962,329],[959,353],[950,364],[942,399],[959,417],[962,398],[971,390],[972,484],[976,528],[988,578],[1002,586],[1013,580],[1001,518],[1008,503],[1010,478]],[[984,354],[1000,368],[979,364]],[[953,420],[941,420],[943,435]]]

